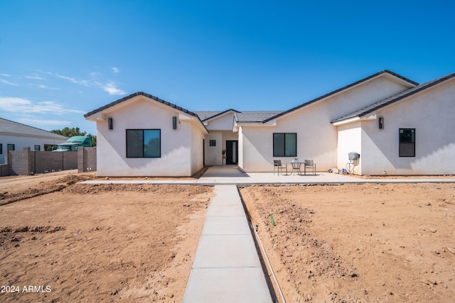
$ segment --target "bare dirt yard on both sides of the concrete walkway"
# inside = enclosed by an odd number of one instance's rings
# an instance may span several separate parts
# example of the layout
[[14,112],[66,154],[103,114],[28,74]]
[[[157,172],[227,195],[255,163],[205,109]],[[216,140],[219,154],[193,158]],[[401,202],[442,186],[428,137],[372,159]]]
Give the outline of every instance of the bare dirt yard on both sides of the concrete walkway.
[[[181,302],[212,189],[95,178],[0,178],[0,302]],[[241,192],[287,302],[454,302],[455,184]]]

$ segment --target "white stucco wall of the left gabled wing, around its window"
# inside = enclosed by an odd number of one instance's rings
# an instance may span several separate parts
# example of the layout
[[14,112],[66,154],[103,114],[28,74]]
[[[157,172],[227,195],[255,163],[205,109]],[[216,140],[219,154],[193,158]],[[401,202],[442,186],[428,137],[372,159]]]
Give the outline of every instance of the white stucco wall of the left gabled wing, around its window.
[[[106,110],[105,121],[97,121],[97,175],[189,176],[202,168],[203,134],[192,130],[191,121],[178,120],[174,131],[172,117],[178,117],[178,111],[144,97],[126,103]],[[112,131],[107,129],[108,116]],[[127,129],[161,129],[161,158],[127,158]]]

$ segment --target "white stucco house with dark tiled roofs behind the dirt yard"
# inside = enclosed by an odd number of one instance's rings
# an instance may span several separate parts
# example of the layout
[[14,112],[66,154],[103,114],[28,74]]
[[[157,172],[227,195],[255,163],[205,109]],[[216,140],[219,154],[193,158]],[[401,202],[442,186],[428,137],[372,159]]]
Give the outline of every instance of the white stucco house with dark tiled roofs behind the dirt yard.
[[418,84],[383,70],[287,111],[193,112],[137,92],[85,119],[100,176],[190,176],[223,165],[223,150],[245,172],[299,158],[319,171],[455,174],[455,73]]

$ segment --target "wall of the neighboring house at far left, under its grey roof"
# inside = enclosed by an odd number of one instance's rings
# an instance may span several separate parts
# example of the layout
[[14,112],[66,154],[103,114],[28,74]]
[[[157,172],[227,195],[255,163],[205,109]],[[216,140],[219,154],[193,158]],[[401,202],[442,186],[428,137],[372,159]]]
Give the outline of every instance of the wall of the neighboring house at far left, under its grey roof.
[[21,134],[0,134],[0,143],[2,145],[2,150],[0,153],[0,164],[5,164],[5,155],[8,151],[8,144],[14,144],[14,150],[22,150],[23,148],[30,148],[30,150],[35,150],[35,145],[40,145],[40,150],[43,151],[44,145],[57,145],[64,143],[67,140],[68,138],[55,139],[45,138],[41,136],[26,136]]

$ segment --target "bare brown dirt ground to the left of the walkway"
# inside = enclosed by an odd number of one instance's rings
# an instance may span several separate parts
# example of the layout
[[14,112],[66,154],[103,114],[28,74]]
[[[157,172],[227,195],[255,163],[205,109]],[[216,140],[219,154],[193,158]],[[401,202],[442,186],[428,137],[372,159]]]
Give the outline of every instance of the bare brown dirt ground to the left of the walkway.
[[181,302],[210,187],[0,179],[0,302]]

